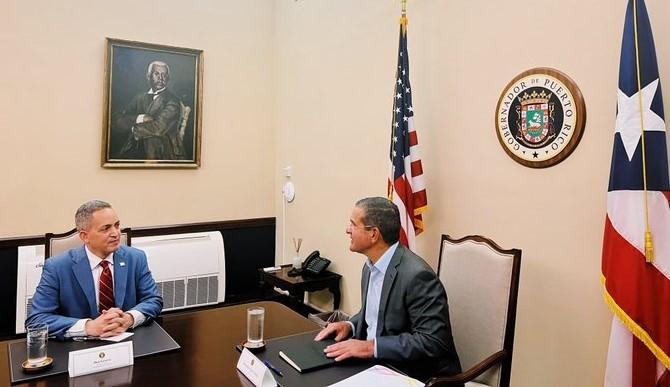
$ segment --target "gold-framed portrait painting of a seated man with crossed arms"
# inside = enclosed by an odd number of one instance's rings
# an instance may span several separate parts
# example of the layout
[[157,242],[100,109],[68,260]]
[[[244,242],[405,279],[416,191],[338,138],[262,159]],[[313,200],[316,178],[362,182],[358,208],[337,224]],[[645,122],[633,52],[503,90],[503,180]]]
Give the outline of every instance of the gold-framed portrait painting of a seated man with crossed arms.
[[202,50],[107,38],[102,166],[198,168]]

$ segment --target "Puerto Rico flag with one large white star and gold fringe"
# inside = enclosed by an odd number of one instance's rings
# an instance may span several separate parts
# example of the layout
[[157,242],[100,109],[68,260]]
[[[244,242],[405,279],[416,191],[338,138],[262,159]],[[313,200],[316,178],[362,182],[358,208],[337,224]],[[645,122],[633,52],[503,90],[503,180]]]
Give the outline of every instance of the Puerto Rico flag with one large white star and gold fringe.
[[[629,0],[602,257],[605,300],[614,313],[605,372],[608,387],[670,386],[666,144],[649,17],[644,0]],[[653,244],[646,243],[647,231]],[[649,247],[653,260],[646,259],[652,257]]]

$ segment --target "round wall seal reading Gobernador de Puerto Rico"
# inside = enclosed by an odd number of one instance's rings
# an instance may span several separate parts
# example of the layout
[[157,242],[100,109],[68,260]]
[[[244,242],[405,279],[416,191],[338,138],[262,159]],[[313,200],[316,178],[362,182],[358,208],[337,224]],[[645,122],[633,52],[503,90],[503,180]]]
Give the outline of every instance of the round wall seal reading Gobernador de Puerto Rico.
[[562,72],[537,67],[507,84],[496,106],[500,145],[519,164],[551,167],[575,150],[586,106],[577,84]]

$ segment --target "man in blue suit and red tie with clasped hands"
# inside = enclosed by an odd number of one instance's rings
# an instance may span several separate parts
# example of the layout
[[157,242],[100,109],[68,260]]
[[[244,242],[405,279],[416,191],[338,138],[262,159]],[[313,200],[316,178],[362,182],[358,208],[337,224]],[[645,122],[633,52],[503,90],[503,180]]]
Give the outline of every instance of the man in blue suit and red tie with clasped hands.
[[92,200],[75,215],[84,246],[46,259],[26,326],[49,335],[109,337],[155,318],[163,308],[143,251],[120,245],[111,205]]

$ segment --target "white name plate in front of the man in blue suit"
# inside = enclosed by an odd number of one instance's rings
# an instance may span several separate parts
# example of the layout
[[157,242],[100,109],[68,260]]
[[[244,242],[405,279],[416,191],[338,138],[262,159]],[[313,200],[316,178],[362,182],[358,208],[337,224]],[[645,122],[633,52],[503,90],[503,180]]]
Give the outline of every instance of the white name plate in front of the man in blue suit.
[[132,365],[133,342],[103,345],[70,352],[67,371],[70,377]]

